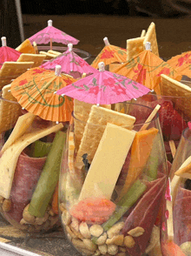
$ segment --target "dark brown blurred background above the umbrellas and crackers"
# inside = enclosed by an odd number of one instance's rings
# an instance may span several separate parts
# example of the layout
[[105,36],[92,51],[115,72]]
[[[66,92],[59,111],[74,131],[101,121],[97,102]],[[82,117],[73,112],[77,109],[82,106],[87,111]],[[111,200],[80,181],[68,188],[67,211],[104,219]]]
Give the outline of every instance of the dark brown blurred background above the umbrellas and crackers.
[[95,56],[103,37],[126,48],[127,39],[140,37],[155,22],[161,57],[168,58],[190,50],[190,16],[191,0],[0,0],[0,36],[16,48],[52,19],[53,26],[80,40],[78,48]]

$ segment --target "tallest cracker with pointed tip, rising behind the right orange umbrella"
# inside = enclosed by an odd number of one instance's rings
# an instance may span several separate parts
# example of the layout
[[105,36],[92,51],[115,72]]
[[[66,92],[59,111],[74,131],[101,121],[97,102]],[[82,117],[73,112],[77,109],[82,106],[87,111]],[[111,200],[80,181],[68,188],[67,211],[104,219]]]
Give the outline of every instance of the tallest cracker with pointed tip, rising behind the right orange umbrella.
[[156,40],[156,32],[155,32],[155,23],[151,23],[148,27],[147,33],[144,37],[143,44],[145,45],[147,42],[151,44],[152,52],[159,56],[158,44]]

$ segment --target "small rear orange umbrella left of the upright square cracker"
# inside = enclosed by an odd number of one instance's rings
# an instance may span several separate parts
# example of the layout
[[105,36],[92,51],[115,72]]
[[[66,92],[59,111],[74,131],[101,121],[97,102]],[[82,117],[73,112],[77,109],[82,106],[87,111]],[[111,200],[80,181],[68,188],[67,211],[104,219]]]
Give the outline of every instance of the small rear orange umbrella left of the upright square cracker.
[[109,44],[108,37],[104,37],[103,41],[105,43],[105,47],[97,55],[97,57],[95,57],[95,60],[91,64],[92,67],[97,69],[100,62],[108,65],[127,61],[127,51],[125,49]]

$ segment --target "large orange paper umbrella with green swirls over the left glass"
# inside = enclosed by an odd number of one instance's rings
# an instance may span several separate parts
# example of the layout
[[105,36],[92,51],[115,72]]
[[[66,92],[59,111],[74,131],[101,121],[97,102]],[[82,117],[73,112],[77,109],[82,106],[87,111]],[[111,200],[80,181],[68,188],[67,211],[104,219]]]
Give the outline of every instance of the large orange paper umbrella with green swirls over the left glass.
[[71,118],[73,101],[54,92],[76,82],[76,79],[60,74],[61,66],[56,71],[33,68],[17,77],[11,84],[12,95],[23,109],[45,120],[65,122]]

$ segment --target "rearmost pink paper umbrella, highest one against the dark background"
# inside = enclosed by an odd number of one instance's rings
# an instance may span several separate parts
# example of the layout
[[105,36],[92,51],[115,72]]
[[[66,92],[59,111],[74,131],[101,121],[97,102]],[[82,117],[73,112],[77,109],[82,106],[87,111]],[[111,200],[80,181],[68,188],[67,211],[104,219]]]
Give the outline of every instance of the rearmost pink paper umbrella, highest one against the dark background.
[[79,40],[74,37],[70,37],[62,30],[56,29],[52,25],[52,20],[48,21],[48,26],[43,30],[40,30],[35,35],[29,38],[30,43],[34,41],[36,44],[48,44],[50,43],[50,49],[52,50],[52,42],[62,43],[62,44],[78,44]]

